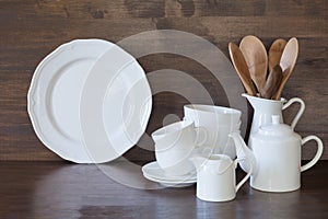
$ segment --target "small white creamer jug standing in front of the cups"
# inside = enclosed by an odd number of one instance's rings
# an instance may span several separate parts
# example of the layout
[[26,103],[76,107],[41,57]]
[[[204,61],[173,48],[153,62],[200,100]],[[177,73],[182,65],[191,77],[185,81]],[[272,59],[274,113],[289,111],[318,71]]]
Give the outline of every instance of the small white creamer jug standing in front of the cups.
[[190,159],[197,169],[196,195],[207,201],[227,201],[236,197],[236,193],[249,178],[250,172],[236,185],[235,169],[241,159],[233,161],[224,154],[209,158],[194,157]]

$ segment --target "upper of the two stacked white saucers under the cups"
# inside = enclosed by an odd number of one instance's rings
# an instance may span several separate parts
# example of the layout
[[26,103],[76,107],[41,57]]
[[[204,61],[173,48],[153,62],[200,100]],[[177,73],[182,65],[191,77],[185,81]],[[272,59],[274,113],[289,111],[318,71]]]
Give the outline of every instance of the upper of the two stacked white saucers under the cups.
[[171,183],[195,183],[197,175],[196,173],[185,175],[171,175],[167,174],[156,161],[150,162],[142,166],[143,175],[148,175],[151,178],[157,180],[159,182],[171,182]]

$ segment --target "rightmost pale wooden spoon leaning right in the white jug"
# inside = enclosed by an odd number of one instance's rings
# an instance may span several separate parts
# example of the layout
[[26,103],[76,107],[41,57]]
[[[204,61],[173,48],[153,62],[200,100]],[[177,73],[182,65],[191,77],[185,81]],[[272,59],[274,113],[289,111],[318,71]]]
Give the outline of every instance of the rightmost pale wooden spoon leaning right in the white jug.
[[280,66],[283,72],[283,78],[277,93],[273,96],[274,100],[280,100],[284,84],[291,77],[292,71],[295,67],[297,56],[298,56],[298,42],[297,38],[293,37],[286,43],[280,59]]

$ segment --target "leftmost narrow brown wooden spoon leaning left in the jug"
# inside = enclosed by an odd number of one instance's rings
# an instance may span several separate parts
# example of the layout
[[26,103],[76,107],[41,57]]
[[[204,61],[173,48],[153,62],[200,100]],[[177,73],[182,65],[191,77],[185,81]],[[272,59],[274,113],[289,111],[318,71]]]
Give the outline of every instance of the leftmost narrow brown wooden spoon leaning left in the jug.
[[229,53],[231,60],[242,80],[242,83],[249,95],[256,95],[256,89],[253,84],[247,64],[245,61],[244,55],[234,43],[229,44]]

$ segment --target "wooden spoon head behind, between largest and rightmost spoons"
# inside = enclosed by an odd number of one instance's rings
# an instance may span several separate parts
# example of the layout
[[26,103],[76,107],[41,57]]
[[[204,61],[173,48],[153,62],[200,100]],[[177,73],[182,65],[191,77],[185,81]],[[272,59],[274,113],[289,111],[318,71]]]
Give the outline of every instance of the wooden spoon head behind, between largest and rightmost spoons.
[[283,38],[277,38],[269,49],[269,72],[272,71],[273,67],[280,64],[280,59],[283,49],[286,45],[286,41]]

